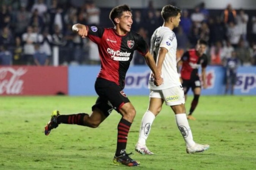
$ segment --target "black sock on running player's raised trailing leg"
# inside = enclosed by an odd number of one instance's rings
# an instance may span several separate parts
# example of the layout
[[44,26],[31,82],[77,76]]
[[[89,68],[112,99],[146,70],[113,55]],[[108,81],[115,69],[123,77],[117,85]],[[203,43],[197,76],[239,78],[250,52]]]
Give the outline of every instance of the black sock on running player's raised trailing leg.
[[78,113],[78,114],[69,114],[69,115],[59,115],[57,117],[58,124],[76,124],[83,125],[83,118],[88,115],[86,113]]

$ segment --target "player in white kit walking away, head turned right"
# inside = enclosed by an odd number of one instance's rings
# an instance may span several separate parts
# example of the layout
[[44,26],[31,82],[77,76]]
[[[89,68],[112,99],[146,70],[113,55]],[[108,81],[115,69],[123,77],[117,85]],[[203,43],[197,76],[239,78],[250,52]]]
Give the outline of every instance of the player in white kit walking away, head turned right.
[[143,155],[152,155],[146,147],[146,139],[151,125],[162,110],[163,102],[170,106],[175,113],[177,127],[187,145],[187,153],[203,152],[209,145],[197,144],[193,141],[191,129],[185,111],[184,91],[177,73],[176,48],[177,39],[172,31],[179,26],[181,10],[172,5],[166,5],[161,12],[164,20],[163,26],[157,28],[151,37],[150,53],[157,63],[157,70],[163,77],[163,84],[154,85],[154,75],[149,78],[149,107],[141,121],[140,136],[135,150]]

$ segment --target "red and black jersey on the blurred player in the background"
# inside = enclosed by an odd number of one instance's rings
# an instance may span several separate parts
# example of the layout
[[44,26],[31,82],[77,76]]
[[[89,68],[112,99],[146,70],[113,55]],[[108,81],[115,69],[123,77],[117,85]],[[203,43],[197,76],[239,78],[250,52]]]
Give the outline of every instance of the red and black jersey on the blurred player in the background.
[[207,66],[207,56],[203,54],[203,56],[199,57],[196,54],[196,49],[190,49],[181,57],[182,60],[182,68],[181,68],[181,78],[184,80],[194,79],[198,76],[198,68],[202,66],[202,68],[206,68]]

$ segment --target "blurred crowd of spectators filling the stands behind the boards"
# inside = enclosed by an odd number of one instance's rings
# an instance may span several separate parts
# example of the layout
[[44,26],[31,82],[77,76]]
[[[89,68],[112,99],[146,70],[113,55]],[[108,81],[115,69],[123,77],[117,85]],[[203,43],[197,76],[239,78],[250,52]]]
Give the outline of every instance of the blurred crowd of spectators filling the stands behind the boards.
[[[0,8],[1,65],[52,65],[54,51],[60,65],[100,64],[97,45],[74,34],[71,27],[75,23],[112,27],[111,9],[99,8],[91,0],[3,0]],[[231,4],[213,11],[204,3],[182,9],[180,26],[174,29],[177,59],[204,39],[209,43],[210,65],[226,65],[231,57],[241,66],[256,65],[256,12],[246,11]],[[132,30],[148,44],[162,24],[161,10],[152,1],[147,8],[133,9]],[[135,53],[133,64],[144,65],[144,58]]]

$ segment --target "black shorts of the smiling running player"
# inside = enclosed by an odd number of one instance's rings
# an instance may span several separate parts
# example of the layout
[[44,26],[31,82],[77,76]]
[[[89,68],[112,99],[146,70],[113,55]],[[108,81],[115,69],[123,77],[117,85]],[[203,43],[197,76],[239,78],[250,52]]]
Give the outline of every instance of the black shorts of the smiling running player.
[[130,102],[123,89],[112,81],[97,78],[94,88],[99,97],[95,105],[93,105],[92,110],[94,110],[95,107],[99,108],[106,116],[108,116],[113,109],[119,113],[120,108],[125,103]]

